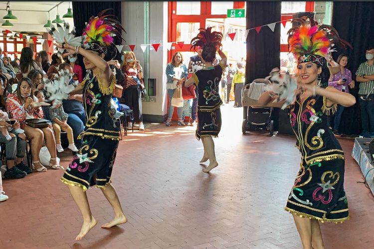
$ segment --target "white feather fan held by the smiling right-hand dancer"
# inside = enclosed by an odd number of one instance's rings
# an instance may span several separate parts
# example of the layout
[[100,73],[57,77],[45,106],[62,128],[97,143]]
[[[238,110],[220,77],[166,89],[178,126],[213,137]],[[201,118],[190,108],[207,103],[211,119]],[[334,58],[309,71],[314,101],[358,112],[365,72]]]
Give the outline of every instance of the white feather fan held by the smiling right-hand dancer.
[[270,81],[271,84],[266,86],[267,91],[272,91],[278,95],[274,102],[285,101],[281,108],[282,110],[296,101],[295,91],[297,90],[297,83],[295,78],[291,77],[289,73],[280,75],[280,72],[277,72],[270,78]]

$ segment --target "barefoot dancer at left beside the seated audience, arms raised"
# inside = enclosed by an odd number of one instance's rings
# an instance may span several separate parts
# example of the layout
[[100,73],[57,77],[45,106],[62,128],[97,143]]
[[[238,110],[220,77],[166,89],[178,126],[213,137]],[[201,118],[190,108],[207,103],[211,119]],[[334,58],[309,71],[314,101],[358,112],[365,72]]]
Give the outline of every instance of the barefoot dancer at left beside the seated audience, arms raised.
[[65,48],[69,54],[79,53],[84,56],[84,65],[89,70],[85,80],[71,93],[83,91],[84,111],[87,117],[86,127],[79,136],[83,140],[83,145],[61,178],[61,181],[69,186],[83,216],[83,225],[76,240],[81,240],[97,223],[91,214],[85,192],[90,186],[96,185],[102,190],[115,212],[113,221],[104,224],[102,228],[111,228],[127,222],[110,181],[120,140],[120,126],[114,118],[116,110],[112,110],[110,105],[116,78],[108,61],[117,54],[113,36],[121,37],[120,29],[123,28],[114,19],[116,17],[104,15],[105,11],[96,17],[92,16],[84,29],[85,48],[73,47],[66,41],[57,44],[57,47]]

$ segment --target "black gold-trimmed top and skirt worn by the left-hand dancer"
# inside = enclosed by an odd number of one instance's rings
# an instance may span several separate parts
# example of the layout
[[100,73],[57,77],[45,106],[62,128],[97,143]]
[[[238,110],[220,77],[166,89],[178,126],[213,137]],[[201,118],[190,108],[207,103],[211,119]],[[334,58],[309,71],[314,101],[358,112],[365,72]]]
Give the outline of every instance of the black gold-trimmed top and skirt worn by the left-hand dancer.
[[86,127],[78,137],[83,140],[83,144],[61,181],[86,191],[95,184],[105,188],[110,182],[120,140],[120,125],[114,118],[116,109],[111,105],[116,78],[113,76],[108,88],[104,88],[99,75],[94,77],[90,74],[81,84],[84,86]]

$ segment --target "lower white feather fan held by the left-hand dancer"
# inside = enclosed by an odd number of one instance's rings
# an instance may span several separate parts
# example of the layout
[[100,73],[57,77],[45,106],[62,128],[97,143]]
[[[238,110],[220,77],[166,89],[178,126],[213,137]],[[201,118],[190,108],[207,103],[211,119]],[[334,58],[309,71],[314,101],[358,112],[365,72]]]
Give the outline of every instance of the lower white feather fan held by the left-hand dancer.
[[49,96],[48,102],[53,101],[53,108],[58,104],[62,104],[62,100],[66,100],[69,97],[69,93],[74,90],[74,86],[78,84],[78,81],[70,84],[73,75],[69,70],[61,70],[59,74],[59,78],[56,78],[52,82],[49,81],[44,85],[44,89],[48,92]]

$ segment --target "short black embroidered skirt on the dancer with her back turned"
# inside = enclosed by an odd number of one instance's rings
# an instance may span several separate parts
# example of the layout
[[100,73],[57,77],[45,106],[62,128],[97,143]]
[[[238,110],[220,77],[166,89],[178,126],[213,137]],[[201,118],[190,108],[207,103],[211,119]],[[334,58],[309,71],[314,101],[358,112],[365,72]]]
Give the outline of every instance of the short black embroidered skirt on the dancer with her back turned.
[[218,136],[222,125],[221,110],[219,108],[209,112],[198,111],[197,119],[197,140],[200,140],[201,136]]

